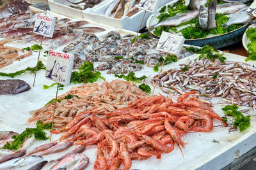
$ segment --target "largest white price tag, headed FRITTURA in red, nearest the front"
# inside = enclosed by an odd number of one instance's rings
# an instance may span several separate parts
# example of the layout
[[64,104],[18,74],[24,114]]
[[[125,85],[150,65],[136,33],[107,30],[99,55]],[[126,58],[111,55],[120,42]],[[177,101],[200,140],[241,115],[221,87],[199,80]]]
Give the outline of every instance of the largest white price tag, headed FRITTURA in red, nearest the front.
[[74,55],[49,50],[45,77],[49,80],[68,85],[72,73]]

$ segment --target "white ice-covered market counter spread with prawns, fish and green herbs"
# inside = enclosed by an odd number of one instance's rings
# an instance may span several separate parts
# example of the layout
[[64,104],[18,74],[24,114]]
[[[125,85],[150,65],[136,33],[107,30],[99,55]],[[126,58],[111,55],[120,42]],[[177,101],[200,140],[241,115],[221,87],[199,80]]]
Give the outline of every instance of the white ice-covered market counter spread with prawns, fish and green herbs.
[[[253,25],[247,59],[209,45],[167,55],[147,32],[54,11],[53,37],[39,36],[44,11],[7,4],[16,10],[0,15],[0,169],[230,169],[255,154]],[[69,85],[45,78],[52,50],[74,55]]]

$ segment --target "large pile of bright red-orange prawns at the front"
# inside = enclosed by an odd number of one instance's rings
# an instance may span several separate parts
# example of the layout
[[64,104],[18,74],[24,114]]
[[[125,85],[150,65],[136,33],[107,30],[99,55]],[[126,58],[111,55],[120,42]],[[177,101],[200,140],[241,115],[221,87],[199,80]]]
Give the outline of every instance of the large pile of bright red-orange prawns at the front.
[[132,160],[160,159],[161,153],[172,152],[175,145],[182,151],[186,133],[210,132],[212,119],[221,121],[194,94],[183,94],[177,102],[164,96],[145,97],[109,113],[86,111],[52,132],[65,132],[60,140],[75,145],[97,145],[94,169],[118,169],[121,164],[129,169]]

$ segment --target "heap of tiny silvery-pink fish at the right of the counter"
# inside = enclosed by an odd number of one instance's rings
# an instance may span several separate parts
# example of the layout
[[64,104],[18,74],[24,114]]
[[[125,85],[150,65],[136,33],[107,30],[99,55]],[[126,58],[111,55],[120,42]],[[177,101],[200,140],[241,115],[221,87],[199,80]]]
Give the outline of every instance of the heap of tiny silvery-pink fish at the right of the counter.
[[[182,68],[188,67],[187,71]],[[152,84],[159,85],[163,92],[183,94],[195,90],[203,96],[223,97],[227,103],[250,106],[256,111],[256,68],[244,62],[216,59],[189,60],[180,69],[170,69],[152,78]]]

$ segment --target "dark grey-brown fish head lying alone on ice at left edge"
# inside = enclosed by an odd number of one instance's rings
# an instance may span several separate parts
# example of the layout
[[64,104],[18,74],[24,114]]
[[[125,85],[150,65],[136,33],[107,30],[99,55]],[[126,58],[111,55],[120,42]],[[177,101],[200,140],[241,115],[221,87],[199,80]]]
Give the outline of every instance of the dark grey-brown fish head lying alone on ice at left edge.
[[0,80],[0,95],[19,94],[29,89],[29,84],[23,80]]

